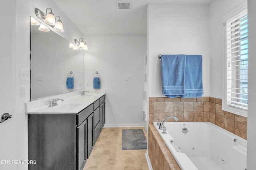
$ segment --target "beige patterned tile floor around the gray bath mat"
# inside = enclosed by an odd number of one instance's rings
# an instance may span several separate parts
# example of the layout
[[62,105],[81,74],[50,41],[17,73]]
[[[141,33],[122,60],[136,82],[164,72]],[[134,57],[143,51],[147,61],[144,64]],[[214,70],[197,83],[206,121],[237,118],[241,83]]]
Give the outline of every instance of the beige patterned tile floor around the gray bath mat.
[[122,129],[144,128],[103,128],[83,170],[148,170],[146,149],[122,150]]

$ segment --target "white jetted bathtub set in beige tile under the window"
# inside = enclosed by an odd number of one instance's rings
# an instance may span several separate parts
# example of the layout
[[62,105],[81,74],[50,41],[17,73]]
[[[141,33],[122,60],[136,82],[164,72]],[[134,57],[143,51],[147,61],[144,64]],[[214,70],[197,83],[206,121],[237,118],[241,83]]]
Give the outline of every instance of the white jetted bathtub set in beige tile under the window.
[[182,170],[245,170],[247,141],[210,122],[165,122],[158,133]]

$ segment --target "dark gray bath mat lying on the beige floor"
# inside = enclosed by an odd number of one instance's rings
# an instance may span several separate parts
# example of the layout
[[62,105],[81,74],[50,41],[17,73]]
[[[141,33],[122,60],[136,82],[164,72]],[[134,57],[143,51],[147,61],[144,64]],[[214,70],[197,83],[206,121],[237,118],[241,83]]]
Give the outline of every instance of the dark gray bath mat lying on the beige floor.
[[147,149],[147,139],[142,129],[123,129],[122,150]]

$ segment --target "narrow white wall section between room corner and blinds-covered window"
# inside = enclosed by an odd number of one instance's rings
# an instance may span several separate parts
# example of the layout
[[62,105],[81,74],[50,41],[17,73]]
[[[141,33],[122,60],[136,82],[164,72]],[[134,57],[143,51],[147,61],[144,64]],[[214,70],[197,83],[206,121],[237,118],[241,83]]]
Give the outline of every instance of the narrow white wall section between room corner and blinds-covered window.
[[244,0],[214,0],[210,4],[210,96],[222,98],[222,17]]

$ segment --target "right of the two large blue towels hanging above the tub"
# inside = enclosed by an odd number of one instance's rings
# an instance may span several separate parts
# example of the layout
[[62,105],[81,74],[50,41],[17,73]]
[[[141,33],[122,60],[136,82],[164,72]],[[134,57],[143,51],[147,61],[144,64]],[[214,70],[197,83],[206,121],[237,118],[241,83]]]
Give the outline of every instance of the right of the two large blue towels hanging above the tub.
[[203,95],[202,55],[186,56],[185,94],[182,98],[198,98]]

